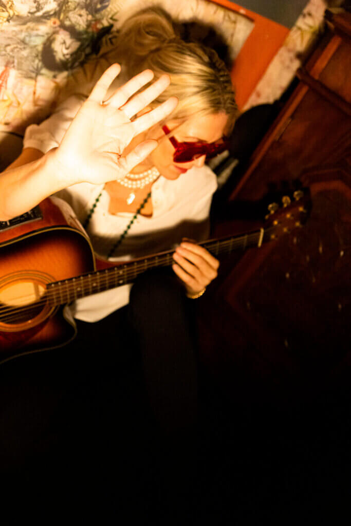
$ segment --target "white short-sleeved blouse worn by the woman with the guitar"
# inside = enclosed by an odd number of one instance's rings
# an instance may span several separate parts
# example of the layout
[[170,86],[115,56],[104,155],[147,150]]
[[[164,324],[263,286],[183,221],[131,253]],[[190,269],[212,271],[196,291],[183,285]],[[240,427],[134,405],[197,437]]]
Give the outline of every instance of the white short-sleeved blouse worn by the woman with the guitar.
[[[46,153],[61,142],[66,129],[82,105],[84,97],[71,96],[42,124],[28,126],[24,148]],[[217,179],[208,166],[193,167],[175,180],[159,177],[152,185],[152,217],[138,215],[127,236],[110,261],[127,261],[171,250],[183,237],[205,240],[209,235],[209,209]],[[104,185],[79,183],[55,194],[67,201],[84,223],[98,195],[102,193],[87,226],[96,255],[105,258],[121,236],[133,213],[109,214],[109,195]],[[74,318],[98,321],[127,305],[131,284],[78,299],[69,306]]]

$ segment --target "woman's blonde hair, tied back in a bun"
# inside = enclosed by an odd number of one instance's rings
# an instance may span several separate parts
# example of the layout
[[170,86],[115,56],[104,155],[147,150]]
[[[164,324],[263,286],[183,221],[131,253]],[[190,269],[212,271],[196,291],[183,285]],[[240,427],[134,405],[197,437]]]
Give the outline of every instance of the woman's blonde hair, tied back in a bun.
[[213,49],[180,38],[162,8],[143,9],[125,21],[117,38],[116,59],[128,77],[148,68],[154,79],[164,73],[171,77],[171,84],[150,105],[177,97],[178,106],[167,120],[185,122],[194,115],[223,112],[228,115],[225,132],[231,133],[238,109],[227,67]]

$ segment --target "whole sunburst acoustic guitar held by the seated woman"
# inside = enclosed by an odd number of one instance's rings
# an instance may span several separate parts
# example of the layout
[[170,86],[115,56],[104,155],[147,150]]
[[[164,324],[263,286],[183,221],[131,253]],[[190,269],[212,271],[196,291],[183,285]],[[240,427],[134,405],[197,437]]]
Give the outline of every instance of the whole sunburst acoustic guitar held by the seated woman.
[[[264,228],[201,243],[215,257],[264,242],[303,225],[308,192],[268,207]],[[173,264],[169,250],[112,265],[95,259],[89,238],[65,201],[50,197],[28,213],[0,221],[0,362],[59,347],[76,335],[64,306],[133,282],[153,267]]]

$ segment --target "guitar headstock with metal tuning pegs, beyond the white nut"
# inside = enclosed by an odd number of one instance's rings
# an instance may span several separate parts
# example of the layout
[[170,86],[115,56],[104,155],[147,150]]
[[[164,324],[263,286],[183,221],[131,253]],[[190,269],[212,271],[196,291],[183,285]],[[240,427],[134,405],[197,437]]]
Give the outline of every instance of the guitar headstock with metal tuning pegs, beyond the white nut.
[[266,231],[269,229],[270,239],[277,239],[283,234],[289,234],[294,228],[302,227],[312,207],[308,188],[286,193],[279,201],[268,205],[268,214],[265,216],[264,228]]

